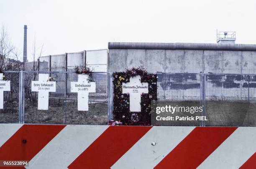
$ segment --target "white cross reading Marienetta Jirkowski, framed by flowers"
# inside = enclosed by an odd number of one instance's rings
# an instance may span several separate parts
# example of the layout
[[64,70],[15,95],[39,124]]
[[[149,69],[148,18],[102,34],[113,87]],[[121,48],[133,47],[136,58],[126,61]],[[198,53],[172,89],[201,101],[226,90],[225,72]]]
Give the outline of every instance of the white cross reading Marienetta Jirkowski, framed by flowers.
[[123,83],[123,94],[130,94],[130,111],[141,112],[141,93],[148,93],[148,83],[141,83],[141,76],[130,78],[130,82]]

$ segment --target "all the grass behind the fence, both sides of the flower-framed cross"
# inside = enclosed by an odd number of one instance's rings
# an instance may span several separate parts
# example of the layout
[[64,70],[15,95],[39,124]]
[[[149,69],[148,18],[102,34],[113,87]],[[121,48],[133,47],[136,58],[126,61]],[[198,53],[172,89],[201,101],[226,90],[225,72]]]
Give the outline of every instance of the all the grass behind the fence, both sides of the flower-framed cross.
[[[201,106],[199,101],[168,101],[171,106]],[[197,116],[199,113],[177,112],[175,115]],[[175,116],[174,115],[174,116]],[[256,127],[256,103],[246,101],[208,100],[206,102],[206,126]],[[153,117],[152,117],[153,118]],[[107,103],[91,103],[89,111],[77,111],[77,102],[51,99],[49,110],[38,110],[37,101],[25,102],[25,122],[34,124],[107,124]],[[18,123],[18,102],[6,102],[0,109],[0,123]],[[161,121],[157,125],[199,126],[199,121]]]

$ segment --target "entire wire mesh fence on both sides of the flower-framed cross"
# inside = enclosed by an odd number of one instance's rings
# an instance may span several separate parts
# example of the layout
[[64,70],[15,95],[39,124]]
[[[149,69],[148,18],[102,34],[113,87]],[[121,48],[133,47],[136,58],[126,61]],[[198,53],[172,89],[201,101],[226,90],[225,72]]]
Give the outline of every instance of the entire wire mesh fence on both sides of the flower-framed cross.
[[[49,99],[45,98],[45,103],[49,102],[48,110],[38,109],[38,92],[31,91],[31,82],[38,81],[38,74],[49,74],[56,81],[56,92],[49,92]],[[78,110],[78,95],[71,92],[71,82],[78,81],[75,72],[7,71],[3,75],[10,80],[10,91],[3,92],[0,123],[107,124],[113,117],[111,73],[92,73],[96,92],[89,93],[88,111]],[[205,116],[207,119],[162,121],[158,125],[256,126],[256,75],[157,75],[158,102],[173,107],[203,107],[200,113],[177,114],[183,117]]]

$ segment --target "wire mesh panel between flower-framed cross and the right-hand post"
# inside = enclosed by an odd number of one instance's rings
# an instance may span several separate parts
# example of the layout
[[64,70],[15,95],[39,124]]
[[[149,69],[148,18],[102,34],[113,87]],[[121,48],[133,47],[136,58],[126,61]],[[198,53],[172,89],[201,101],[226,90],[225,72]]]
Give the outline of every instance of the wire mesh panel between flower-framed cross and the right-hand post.
[[[184,112],[186,107],[200,107],[201,92],[200,74],[192,73],[160,73],[157,80],[157,100],[161,106],[180,107],[181,112],[168,114],[172,117],[195,117],[198,113]],[[167,115],[167,114],[166,114]],[[199,126],[200,121],[159,121],[157,125],[168,126]]]

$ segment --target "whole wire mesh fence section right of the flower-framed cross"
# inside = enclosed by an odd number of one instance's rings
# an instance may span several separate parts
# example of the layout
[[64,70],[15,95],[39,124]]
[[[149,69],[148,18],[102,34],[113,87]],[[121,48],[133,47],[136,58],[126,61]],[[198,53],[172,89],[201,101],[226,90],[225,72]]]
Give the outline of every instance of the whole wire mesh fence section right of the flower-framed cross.
[[256,126],[256,75],[159,73],[160,105],[203,107],[204,121],[161,121],[168,126]]

